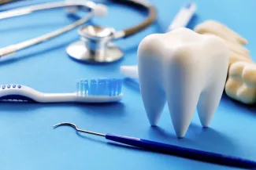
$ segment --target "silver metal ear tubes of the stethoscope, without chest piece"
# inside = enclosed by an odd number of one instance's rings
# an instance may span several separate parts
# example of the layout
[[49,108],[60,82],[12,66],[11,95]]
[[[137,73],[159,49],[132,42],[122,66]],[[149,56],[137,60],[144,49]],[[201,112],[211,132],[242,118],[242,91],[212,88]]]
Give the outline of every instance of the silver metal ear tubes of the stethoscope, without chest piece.
[[51,38],[56,38],[58,35],[61,35],[67,31],[71,31],[72,29],[86,23],[93,16],[105,16],[106,15],[106,6],[101,4],[95,4],[95,2],[91,1],[65,1],[65,2],[49,2],[45,4],[39,5],[31,5],[28,7],[21,7],[18,9],[11,9],[5,12],[0,13],[0,20],[10,18],[13,16],[22,16],[30,13],[34,13],[36,11],[45,10],[45,9],[55,9],[55,8],[66,8],[69,13],[76,12],[76,9],[84,9],[89,11],[87,16],[84,16],[80,20],[76,20],[76,22],[69,24],[61,29],[50,32],[48,34],[43,34],[38,38],[32,38],[25,42],[20,42],[15,45],[9,45],[0,49],[0,58],[2,56],[7,56],[13,52],[17,52],[18,50],[28,48],[32,45],[39,44],[41,42],[45,42]]

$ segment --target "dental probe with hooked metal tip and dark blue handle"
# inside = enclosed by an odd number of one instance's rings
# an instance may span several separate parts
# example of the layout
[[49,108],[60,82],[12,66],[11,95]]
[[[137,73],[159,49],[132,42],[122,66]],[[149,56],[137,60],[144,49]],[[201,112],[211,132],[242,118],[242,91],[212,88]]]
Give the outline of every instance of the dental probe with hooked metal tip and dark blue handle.
[[231,157],[223,154],[215,154],[215,153],[206,152],[202,150],[193,150],[193,149],[189,149],[181,146],[173,146],[173,145],[158,143],[158,142],[154,142],[146,139],[91,132],[91,131],[77,128],[75,124],[72,124],[69,122],[62,122],[57,125],[54,125],[53,127],[57,128],[61,125],[71,126],[72,128],[75,128],[77,132],[88,133],[95,136],[102,136],[102,137],[105,137],[106,139],[115,141],[117,143],[124,143],[130,146],[136,146],[139,148],[153,150],[160,153],[172,154],[179,157],[186,157],[186,158],[190,158],[198,161],[206,161],[206,162],[210,162],[218,165],[227,165],[232,167],[248,168],[248,169],[256,168],[255,161],[250,161],[250,160],[242,159],[239,157]]

